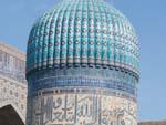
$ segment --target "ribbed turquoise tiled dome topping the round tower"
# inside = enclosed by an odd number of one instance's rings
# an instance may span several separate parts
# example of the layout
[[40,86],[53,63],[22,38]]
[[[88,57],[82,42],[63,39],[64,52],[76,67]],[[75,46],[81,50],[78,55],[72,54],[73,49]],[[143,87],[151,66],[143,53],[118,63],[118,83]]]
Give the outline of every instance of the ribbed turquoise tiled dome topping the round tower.
[[34,23],[27,73],[112,66],[138,74],[138,42],[127,18],[104,0],[63,0]]

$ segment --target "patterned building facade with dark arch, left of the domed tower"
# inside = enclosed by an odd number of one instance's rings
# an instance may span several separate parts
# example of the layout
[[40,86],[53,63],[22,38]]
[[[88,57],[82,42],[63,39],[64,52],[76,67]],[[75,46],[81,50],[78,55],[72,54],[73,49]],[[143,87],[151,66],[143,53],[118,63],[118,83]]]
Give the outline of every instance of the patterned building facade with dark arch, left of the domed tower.
[[0,125],[24,125],[25,54],[0,42]]

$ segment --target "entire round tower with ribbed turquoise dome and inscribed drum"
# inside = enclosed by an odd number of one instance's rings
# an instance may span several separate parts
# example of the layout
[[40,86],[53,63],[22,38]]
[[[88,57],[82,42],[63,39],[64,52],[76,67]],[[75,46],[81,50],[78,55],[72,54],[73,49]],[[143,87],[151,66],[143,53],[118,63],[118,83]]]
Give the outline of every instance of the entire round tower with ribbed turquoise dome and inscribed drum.
[[27,125],[137,125],[137,37],[104,0],[63,0],[34,23],[27,79]]

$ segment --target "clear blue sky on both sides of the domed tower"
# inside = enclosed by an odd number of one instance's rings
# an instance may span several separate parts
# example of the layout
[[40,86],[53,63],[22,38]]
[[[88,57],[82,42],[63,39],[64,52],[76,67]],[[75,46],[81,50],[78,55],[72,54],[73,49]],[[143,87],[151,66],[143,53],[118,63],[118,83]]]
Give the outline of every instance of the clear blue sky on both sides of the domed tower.
[[[60,0],[0,0],[0,41],[25,52],[33,22]],[[106,0],[135,27],[141,46],[138,117],[166,119],[166,1]]]

